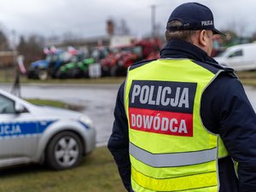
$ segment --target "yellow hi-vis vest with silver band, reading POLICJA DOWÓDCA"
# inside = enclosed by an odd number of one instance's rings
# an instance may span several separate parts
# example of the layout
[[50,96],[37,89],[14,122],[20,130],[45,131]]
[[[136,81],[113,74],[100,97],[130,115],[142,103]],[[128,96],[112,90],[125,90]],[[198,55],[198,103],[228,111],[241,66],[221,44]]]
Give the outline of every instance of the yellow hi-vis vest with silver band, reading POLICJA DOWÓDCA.
[[135,192],[217,192],[218,159],[228,155],[201,121],[213,73],[188,59],[160,59],[128,70],[131,186]]

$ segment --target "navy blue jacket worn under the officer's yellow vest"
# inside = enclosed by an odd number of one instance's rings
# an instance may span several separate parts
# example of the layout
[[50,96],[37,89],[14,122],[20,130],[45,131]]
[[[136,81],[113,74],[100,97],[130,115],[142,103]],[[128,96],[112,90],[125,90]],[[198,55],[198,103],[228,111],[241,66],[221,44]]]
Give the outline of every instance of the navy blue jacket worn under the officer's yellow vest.
[[[189,58],[209,70],[220,66],[193,44],[171,41],[160,52],[161,58]],[[135,64],[139,67],[146,62]],[[124,84],[121,84],[114,108],[113,132],[108,149],[119,168],[127,191],[131,190],[128,122],[124,107]],[[218,160],[220,192],[256,191],[256,114],[232,70],[220,73],[207,87],[201,99],[201,119],[205,127],[224,141],[230,156]],[[239,162],[238,177],[233,160]]]

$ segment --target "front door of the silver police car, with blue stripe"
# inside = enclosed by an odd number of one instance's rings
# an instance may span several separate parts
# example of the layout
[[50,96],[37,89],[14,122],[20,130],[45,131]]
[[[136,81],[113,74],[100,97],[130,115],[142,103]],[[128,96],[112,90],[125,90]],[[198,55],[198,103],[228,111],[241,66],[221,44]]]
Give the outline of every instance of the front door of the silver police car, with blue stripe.
[[31,161],[38,145],[38,122],[29,108],[17,113],[16,104],[0,94],[0,166]]

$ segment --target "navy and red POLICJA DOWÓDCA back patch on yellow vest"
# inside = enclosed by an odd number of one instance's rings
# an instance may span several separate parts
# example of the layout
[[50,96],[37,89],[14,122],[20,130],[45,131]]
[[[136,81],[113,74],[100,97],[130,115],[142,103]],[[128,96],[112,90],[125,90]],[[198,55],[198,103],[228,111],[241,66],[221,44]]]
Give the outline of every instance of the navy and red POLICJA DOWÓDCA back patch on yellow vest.
[[139,81],[131,84],[131,129],[173,136],[193,136],[195,83]]

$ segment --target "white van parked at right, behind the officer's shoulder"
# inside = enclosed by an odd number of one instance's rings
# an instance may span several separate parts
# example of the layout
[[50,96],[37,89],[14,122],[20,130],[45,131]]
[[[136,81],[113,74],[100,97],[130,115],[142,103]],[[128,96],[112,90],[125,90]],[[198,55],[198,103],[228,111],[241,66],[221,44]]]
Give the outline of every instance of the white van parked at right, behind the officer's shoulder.
[[221,66],[236,71],[256,70],[256,44],[237,44],[214,57]]

